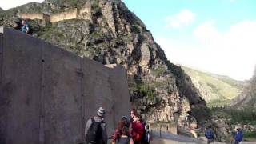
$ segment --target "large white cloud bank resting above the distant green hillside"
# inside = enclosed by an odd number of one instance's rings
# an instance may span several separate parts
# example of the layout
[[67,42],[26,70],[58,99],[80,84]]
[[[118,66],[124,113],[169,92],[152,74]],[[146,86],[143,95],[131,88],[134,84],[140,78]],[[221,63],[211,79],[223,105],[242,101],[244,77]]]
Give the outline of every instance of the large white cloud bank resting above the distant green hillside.
[[207,21],[194,29],[194,37],[196,40],[185,42],[186,46],[174,38],[156,40],[171,62],[238,80],[249,79],[253,75],[256,65],[256,20],[238,22],[225,32],[218,30],[214,21]]

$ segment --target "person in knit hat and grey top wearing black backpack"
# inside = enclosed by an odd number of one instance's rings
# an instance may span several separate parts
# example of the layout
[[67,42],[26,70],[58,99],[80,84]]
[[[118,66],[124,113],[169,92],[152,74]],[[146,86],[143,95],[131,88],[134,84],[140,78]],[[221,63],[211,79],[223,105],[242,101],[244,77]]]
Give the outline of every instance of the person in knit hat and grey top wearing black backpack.
[[86,122],[85,136],[87,144],[107,144],[104,116],[105,110],[99,107],[97,115]]

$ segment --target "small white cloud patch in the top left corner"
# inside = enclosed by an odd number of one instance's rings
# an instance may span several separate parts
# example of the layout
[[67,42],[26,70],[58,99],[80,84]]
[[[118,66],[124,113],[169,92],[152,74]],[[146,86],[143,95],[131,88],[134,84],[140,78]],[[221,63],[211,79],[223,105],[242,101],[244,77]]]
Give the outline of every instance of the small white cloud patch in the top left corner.
[[42,1],[44,0],[7,0],[5,2],[0,2],[0,7],[2,7],[3,10],[8,10],[16,6],[24,5],[28,2],[42,2]]

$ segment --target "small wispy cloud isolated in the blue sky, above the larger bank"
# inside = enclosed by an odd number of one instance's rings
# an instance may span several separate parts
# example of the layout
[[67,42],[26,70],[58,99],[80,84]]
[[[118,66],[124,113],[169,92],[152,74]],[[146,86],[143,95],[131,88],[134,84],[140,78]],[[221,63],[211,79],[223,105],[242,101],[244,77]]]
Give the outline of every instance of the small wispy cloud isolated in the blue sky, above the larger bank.
[[195,18],[195,14],[190,10],[181,10],[178,14],[167,16],[166,28],[178,28],[180,26],[186,26],[193,22]]

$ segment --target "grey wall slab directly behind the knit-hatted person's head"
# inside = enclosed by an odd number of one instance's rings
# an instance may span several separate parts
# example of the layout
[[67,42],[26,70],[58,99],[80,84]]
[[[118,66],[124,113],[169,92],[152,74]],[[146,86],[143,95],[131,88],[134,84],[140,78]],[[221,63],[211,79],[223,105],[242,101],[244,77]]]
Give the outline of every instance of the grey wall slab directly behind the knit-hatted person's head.
[[[108,133],[114,130],[114,95],[110,84],[109,68],[103,67],[101,63],[83,59],[85,73],[84,95],[85,95],[85,119],[92,118],[99,106],[106,107],[106,122],[110,126]],[[94,97],[91,97],[91,96]]]

